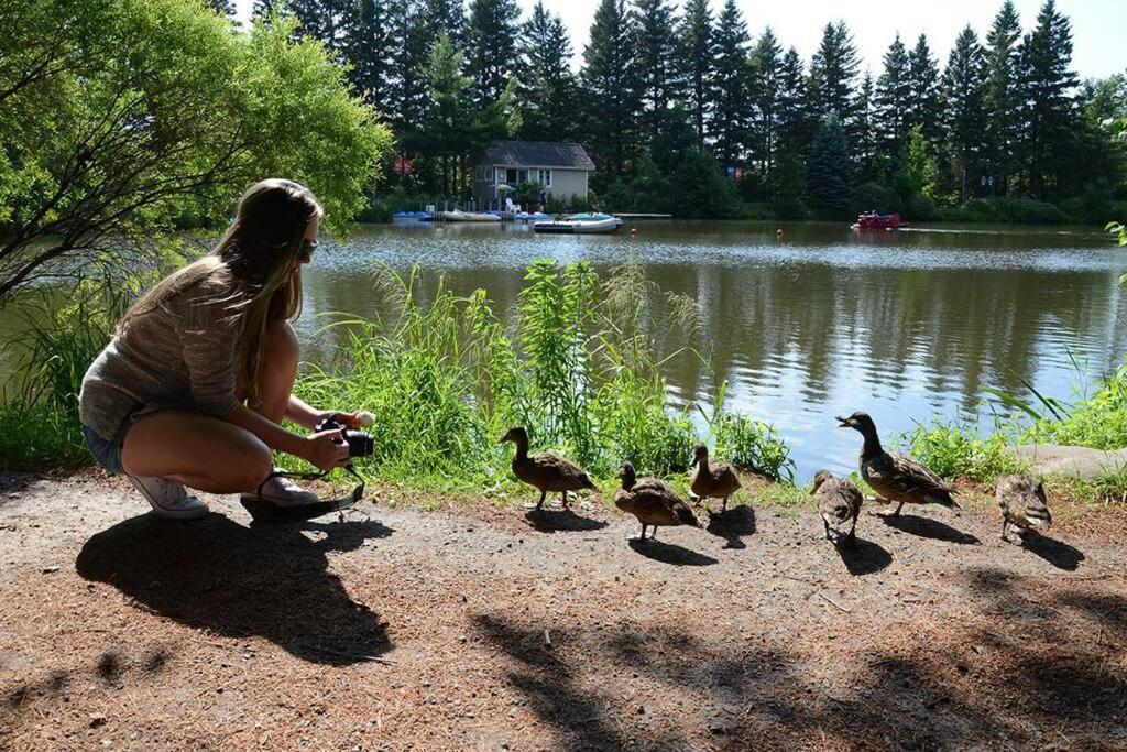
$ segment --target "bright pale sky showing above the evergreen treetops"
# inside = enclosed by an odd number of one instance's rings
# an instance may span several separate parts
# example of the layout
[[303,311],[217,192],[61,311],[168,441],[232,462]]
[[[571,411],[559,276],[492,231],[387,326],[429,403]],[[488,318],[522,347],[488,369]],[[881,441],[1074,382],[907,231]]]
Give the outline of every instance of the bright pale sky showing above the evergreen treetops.
[[[1028,29],[1037,19],[1044,0],[1015,0],[1021,24]],[[558,14],[571,33],[575,64],[579,65],[587,30],[598,0],[543,0],[544,7]],[[240,18],[250,15],[252,0],[237,0]],[[517,0],[527,16],[535,0]],[[711,0],[713,15],[724,0]],[[926,32],[932,54],[947,62],[947,54],[962,27],[968,23],[984,39],[990,24],[1002,7],[1002,0],[737,0],[748,29],[754,36],[765,26],[774,28],[783,47],[798,47],[802,60],[810,55],[822,38],[827,21],[844,19],[873,76],[879,76],[881,57],[897,32],[907,46]],[[1072,20],[1073,68],[1081,78],[1106,77],[1127,70],[1127,2],[1124,0],[1057,0],[1057,8]]]

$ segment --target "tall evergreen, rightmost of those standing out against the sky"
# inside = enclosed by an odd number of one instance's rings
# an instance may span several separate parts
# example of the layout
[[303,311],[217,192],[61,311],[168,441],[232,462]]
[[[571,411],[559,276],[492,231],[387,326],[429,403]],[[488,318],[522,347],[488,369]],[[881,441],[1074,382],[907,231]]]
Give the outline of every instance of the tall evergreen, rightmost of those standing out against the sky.
[[1019,91],[1023,105],[1021,157],[1036,198],[1054,187],[1072,159],[1071,143],[1076,110],[1076,74],[1072,65],[1072,27],[1045,0],[1037,26],[1026,35],[1020,50]]

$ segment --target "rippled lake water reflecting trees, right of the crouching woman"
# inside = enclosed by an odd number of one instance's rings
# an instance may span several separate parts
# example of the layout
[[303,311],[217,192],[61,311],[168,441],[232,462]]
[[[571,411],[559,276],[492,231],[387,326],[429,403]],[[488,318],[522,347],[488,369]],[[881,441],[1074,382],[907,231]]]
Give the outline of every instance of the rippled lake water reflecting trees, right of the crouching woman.
[[[773,423],[805,480],[819,467],[855,468],[860,435],[835,427],[834,415],[868,412],[885,436],[933,416],[990,426],[987,388],[1021,393],[1026,378],[1068,399],[1127,352],[1117,285],[1127,250],[1098,230],[633,224],[635,238],[624,229],[567,237],[514,224],[397,224],[325,242],[305,273],[305,357],[331,348],[317,313],[379,312],[370,273],[380,263],[449,272],[455,291],[483,287],[504,312],[536,258],[587,259],[604,272],[632,256],[662,289],[698,301],[717,378],[730,383],[728,407]],[[671,352],[686,344],[660,334]],[[687,354],[666,375],[673,401],[715,391]]]

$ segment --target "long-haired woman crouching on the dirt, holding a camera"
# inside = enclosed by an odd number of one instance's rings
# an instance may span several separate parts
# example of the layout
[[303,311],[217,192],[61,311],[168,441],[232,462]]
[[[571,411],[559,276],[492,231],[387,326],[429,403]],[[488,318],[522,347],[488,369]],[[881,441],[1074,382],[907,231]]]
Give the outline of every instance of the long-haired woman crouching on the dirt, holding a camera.
[[[270,477],[272,451],[321,470],[347,463],[339,432],[305,436],[281,425],[290,418],[313,428],[337,413],[291,393],[298,339],[290,320],[301,309],[301,272],[321,214],[296,183],[252,186],[214,250],[145,293],[87,371],[80,416],[90,452],[124,474],[158,514],[207,513],[185,486],[260,490],[283,505],[316,501]],[[340,415],[355,423],[355,414]]]

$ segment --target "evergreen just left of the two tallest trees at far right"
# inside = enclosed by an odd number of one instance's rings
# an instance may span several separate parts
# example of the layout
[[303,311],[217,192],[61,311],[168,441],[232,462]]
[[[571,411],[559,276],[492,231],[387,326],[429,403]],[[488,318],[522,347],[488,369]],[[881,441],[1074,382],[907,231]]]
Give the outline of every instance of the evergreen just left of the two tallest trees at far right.
[[967,26],[955,41],[943,71],[943,125],[947,151],[959,183],[961,202],[978,184],[984,149],[983,114],[986,55]]

